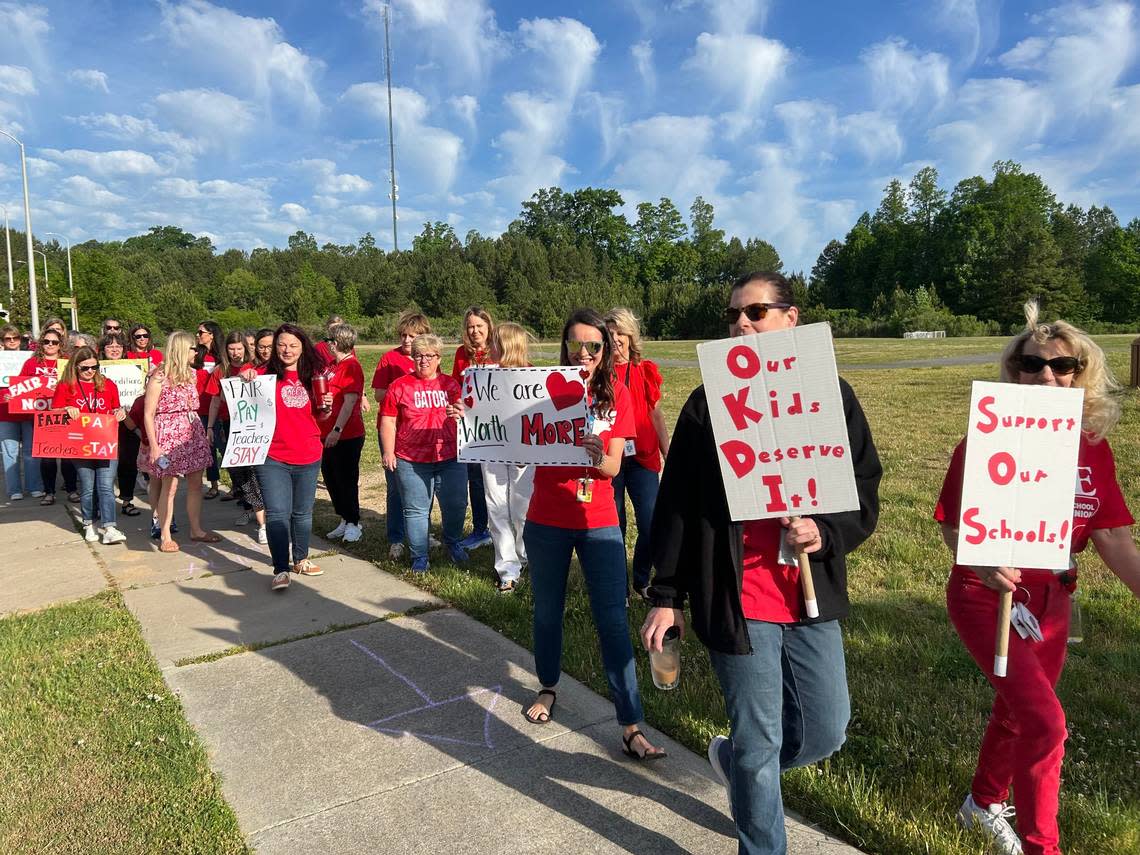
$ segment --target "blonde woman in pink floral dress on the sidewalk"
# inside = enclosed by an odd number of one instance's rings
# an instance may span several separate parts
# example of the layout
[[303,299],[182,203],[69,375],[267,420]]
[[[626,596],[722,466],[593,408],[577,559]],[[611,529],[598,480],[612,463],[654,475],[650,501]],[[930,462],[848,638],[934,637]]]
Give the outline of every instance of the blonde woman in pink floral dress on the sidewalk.
[[170,536],[178,482],[187,481],[186,515],[190,539],[215,544],[218,535],[202,528],[202,471],[210,465],[210,443],[198,418],[198,390],[190,366],[195,352],[189,333],[176,331],[166,337],[162,367],[147,380],[142,422],[148,446],[139,454],[139,469],[160,479],[158,528],[162,552],[178,552]]

